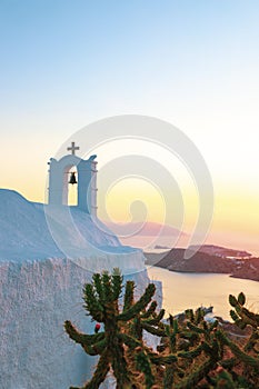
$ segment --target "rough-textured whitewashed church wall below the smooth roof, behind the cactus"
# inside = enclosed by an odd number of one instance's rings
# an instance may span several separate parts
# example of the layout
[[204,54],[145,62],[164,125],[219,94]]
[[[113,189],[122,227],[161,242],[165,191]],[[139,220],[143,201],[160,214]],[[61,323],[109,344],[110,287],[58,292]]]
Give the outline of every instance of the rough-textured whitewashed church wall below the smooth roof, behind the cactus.
[[[96,359],[69,339],[63,322],[93,333],[82,308],[82,286],[92,273],[61,259],[2,262],[0,273],[0,388],[82,386]],[[139,293],[149,282],[146,270],[128,278]]]

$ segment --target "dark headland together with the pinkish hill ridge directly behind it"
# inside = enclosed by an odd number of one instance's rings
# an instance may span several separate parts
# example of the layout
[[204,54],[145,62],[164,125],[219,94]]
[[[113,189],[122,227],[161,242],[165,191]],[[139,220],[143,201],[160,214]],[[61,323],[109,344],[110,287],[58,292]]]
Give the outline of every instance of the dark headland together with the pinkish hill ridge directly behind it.
[[247,251],[205,245],[190,259],[185,259],[185,251],[175,248],[160,255],[145,253],[146,263],[171,271],[228,273],[230,277],[259,281],[259,258]]

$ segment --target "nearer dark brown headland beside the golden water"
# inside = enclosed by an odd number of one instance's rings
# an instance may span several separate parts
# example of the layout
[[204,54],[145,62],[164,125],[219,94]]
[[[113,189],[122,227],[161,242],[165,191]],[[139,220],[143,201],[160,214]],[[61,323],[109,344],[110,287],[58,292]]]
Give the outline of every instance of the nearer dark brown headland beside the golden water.
[[196,252],[190,259],[185,259],[185,249],[172,249],[152,265],[171,271],[229,273],[231,277],[259,281],[259,258],[233,259]]

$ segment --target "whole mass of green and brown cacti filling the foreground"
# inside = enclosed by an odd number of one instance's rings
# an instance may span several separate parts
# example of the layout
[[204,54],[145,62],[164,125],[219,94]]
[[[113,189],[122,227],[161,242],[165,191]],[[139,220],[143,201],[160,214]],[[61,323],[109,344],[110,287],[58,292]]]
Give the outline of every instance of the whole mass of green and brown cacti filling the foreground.
[[[245,307],[242,292],[229,297],[231,329],[239,328],[237,333],[217,320],[207,322],[201,308],[165,320],[165,311],[152,301],[153,283],[135,299],[135,282],[122,282],[114,270],[93,275],[92,283],[84,286],[84,308],[98,322],[96,333],[81,333],[64,322],[73,341],[88,355],[100,356],[91,380],[81,389],[99,388],[109,370],[118,389],[259,388],[259,315]],[[160,337],[156,351],[146,345],[143,330]]]

